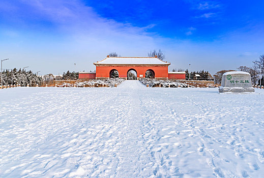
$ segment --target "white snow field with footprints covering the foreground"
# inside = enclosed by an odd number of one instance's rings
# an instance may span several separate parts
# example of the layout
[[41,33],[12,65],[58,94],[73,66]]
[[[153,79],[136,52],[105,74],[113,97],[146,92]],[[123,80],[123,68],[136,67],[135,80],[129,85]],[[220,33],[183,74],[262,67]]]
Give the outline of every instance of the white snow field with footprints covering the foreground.
[[264,177],[264,90],[0,90],[0,177]]

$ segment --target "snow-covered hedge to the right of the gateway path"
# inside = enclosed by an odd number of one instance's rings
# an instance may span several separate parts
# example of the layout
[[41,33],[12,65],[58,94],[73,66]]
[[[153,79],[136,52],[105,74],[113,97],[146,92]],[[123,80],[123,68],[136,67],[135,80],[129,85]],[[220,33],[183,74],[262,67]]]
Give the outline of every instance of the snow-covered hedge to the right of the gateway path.
[[[150,87],[158,87],[159,85],[161,87],[188,87],[188,84],[186,83],[181,83],[177,81],[171,81],[171,80],[157,80],[157,79],[146,79],[146,78],[141,78],[139,79],[144,85],[149,84]],[[193,86],[189,86],[193,87]]]

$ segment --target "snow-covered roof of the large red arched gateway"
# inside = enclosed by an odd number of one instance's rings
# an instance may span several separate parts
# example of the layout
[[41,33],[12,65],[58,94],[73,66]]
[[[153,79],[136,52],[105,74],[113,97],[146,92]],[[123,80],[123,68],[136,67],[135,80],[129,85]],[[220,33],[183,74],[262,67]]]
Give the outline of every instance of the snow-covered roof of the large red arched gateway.
[[170,63],[161,61],[157,57],[109,57],[94,63],[97,64],[120,64],[120,65],[170,65]]

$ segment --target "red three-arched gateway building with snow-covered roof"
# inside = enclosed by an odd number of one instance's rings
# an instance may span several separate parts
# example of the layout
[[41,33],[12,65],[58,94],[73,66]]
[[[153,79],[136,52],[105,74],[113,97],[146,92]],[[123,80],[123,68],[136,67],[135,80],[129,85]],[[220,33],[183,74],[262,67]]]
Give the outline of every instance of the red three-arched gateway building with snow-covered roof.
[[107,56],[104,60],[94,63],[94,65],[96,66],[97,79],[109,78],[113,76],[113,71],[118,71],[118,77],[125,79],[168,79],[168,66],[170,63],[161,61],[158,57]]

